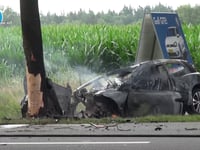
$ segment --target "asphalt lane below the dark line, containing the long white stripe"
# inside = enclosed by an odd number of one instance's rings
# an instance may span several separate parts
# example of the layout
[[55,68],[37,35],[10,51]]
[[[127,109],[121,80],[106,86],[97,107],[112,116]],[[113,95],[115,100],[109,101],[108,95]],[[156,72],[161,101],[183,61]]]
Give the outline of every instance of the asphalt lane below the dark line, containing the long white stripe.
[[1,150],[199,150],[199,138],[180,137],[12,137]]

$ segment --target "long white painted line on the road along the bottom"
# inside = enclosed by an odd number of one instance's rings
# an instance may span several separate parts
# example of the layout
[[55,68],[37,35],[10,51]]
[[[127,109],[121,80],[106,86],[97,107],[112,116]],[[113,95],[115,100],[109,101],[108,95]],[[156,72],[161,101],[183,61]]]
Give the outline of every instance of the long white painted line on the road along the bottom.
[[0,145],[100,145],[100,144],[150,144],[150,141],[128,142],[0,142]]

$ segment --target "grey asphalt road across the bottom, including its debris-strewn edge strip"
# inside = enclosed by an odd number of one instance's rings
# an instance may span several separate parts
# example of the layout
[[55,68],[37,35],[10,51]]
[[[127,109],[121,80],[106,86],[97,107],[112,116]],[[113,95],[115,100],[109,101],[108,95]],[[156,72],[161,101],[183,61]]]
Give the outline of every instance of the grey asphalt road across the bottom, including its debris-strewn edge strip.
[[199,150],[200,122],[1,125],[0,150]]

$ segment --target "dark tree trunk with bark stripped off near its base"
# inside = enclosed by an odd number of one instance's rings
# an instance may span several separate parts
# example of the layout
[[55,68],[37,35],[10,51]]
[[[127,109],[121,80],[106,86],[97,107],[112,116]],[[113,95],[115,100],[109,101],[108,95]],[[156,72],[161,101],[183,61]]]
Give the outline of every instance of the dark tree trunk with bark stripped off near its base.
[[45,67],[38,0],[20,0],[23,48],[26,57],[28,116],[44,108]]

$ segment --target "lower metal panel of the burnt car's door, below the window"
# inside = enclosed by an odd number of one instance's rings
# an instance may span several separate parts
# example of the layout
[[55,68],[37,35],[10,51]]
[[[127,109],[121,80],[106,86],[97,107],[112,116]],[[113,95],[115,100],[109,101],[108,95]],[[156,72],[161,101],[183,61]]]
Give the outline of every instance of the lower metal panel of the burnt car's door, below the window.
[[181,95],[173,91],[131,91],[128,96],[128,116],[180,114]]

